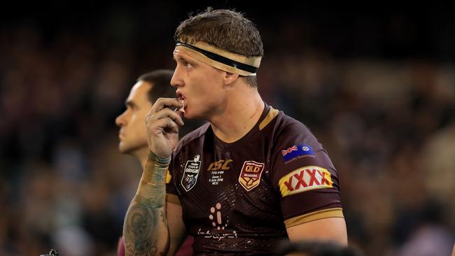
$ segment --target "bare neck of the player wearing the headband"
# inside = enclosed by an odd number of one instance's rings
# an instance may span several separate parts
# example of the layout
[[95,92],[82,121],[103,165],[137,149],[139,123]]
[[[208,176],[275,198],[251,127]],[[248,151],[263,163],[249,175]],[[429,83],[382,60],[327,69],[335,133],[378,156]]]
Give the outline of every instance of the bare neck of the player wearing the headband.
[[258,90],[248,85],[236,85],[228,93],[228,102],[220,115],[211,118],[214,134],[226,143],[238,141],[258,122],[264,102]]

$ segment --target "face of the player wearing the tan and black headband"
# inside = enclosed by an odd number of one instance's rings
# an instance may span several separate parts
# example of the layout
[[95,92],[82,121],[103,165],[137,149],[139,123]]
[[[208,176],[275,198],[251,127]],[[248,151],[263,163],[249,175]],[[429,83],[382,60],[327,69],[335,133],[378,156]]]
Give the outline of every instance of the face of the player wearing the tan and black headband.
[[208,120],[225,106],[225,72],[190,57],[185,50],[174,51],[176,69],[171,85],[185,99],[185,117]]

